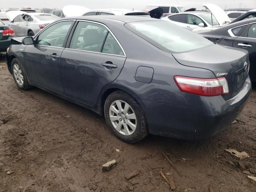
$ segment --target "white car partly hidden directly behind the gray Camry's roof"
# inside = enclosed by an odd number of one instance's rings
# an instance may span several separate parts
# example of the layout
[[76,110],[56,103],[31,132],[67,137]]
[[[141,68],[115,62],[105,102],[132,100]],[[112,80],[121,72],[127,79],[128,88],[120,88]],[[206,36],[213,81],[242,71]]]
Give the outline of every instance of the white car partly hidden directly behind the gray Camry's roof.
[[90,15],[130,15],[130,16],[150,17],[148,12],[138,11],[133,9],[96,9],[96,10],[90,10],[82,14],[82,16],[90,16]]

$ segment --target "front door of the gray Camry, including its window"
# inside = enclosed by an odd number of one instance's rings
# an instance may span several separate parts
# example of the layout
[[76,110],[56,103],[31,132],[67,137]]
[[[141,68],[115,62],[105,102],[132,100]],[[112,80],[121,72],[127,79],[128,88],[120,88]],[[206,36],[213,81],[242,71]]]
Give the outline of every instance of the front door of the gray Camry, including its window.
[[26,46],[24,63],[30,82],[63,93],[60,78],[60,56],[74,20],[52,24],[34,38],[34,45]]

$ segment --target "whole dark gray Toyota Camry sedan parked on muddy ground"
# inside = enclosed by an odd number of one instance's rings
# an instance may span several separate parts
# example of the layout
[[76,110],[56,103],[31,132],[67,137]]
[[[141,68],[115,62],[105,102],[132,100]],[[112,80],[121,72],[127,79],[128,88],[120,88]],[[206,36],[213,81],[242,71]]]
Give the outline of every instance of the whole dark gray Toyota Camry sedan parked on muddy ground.
[[248,52],[170,22],[134,16],[58,20],[6,54],[18,88],[36,86],[102,116],[121,140],[200,140],[231,124],[251,92]]

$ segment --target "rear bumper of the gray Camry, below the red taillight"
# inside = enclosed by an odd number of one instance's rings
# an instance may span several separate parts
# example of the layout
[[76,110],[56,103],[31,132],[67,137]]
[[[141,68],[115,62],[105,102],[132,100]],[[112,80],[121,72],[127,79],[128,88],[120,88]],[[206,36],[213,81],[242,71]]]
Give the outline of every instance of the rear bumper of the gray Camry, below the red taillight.
[[188,105],[173,106],[140,100],[151,134],[185,140],[204,140],[224,130],[244,108],[252,90],[248,77],[240,92],[229,100],[183,93]]

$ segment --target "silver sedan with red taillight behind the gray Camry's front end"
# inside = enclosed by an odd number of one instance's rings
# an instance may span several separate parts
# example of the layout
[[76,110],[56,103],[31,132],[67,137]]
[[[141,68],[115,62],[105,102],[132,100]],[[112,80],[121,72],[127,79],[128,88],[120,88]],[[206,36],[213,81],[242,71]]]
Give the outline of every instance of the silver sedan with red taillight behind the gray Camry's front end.
[[14,29],[17,37],[34,36],[46,25],[60,19],[58,16],[42,13],[19,14],[8,25]]

